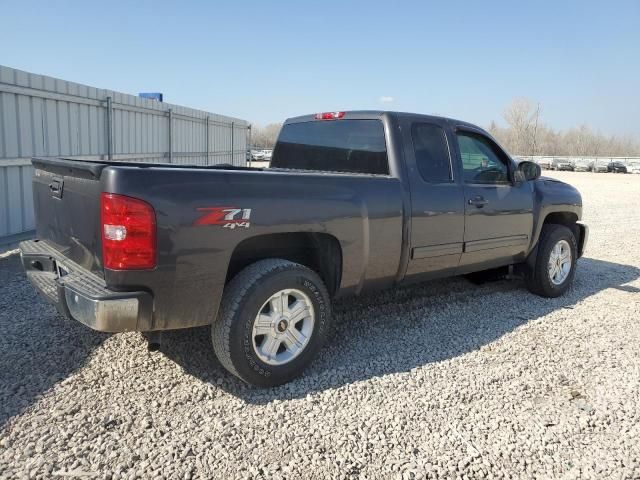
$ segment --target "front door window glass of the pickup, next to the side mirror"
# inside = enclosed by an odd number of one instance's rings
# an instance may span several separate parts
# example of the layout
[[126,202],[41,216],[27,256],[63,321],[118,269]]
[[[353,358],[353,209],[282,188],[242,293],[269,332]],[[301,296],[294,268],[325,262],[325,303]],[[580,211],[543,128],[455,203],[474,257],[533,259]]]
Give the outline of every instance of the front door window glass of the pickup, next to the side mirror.
[[466,132],[457,137],[466,183],[509,183],[507,159],[489,140]]

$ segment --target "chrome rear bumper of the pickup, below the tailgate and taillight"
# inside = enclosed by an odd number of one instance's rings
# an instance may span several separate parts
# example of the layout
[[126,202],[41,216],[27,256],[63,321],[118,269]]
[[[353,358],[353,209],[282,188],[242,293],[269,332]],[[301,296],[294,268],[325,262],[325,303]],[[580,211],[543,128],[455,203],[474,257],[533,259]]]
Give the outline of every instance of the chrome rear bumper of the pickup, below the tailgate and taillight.
[[150,293],[110,290],[103,278],[72,262],[46,241],[20,243],[20,258],[31,284],[69,318],[101,332],[151,330]]

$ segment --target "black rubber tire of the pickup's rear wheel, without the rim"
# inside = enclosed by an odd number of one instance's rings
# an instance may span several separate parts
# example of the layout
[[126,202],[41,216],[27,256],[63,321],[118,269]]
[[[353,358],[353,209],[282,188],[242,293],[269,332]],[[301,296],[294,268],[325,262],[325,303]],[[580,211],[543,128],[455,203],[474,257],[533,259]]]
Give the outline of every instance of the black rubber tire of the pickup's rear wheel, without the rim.
[[[283,365],[271,365],[255,352],[253,323],[273,294],[292,288],[310,299],[315,312],[313,330],[297,357]],[[274,258],[249,265],[225,287],[211,337],[218,360],[229,372],[249,384],[272,387],[302,373],[324,344],[330,327],[331,301],[320,277],[303,265]]]

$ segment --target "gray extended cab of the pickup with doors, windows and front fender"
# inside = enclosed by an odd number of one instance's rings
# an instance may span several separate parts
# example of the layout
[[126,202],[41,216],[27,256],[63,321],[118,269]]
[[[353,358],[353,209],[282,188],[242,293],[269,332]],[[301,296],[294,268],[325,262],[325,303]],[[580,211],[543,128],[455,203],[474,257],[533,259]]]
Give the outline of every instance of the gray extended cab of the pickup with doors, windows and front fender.
[[[339,132],[344,135],[342,145]],[[329,164],[327,146],[318,150],[314,145],[327,138],[334,150],[348,152],[335,156],[335,165]],[[356,138],[363,144],[361,150],[349,148],[356,147]],[[489,133],[444,117],[329,112],[289,119],[271,166],[398,179],[406,192],[405,258],[398,283],[522,263],[544,223],[541,208],[547,214],[561,210],[569,223],[577,222],[582,211],[580,194],[573,187],[537,181],[540,170],[531,162],[522,165],[536,172],[527,181],[523,169]]]

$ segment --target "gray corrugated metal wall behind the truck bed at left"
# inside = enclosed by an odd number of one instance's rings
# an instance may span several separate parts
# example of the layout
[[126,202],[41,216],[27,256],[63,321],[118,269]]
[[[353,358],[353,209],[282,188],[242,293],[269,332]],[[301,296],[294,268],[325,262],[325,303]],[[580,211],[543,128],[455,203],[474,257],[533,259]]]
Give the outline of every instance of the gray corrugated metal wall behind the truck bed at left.
[[244,120],[0,65],[0,245],[34,228],[31,157],[246,161]]

